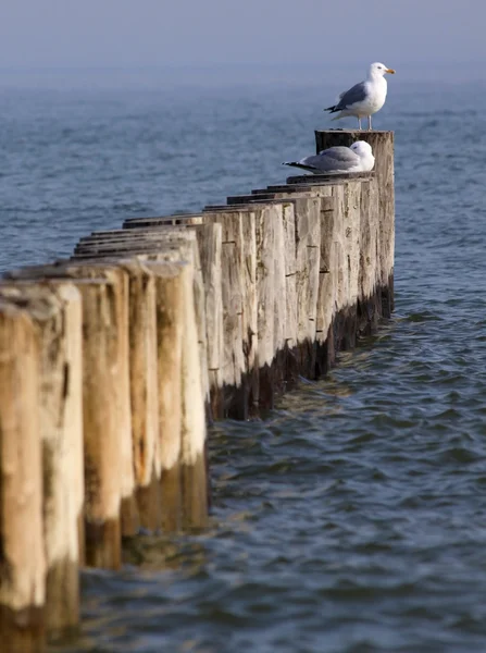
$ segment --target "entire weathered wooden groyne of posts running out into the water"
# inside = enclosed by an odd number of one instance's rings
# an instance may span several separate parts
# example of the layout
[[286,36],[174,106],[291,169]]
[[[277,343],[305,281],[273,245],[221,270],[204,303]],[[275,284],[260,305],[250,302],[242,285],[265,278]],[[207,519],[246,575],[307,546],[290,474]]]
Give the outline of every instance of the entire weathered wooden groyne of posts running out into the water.
[[79,568],[207,525],[207,423],[272,408],[392,309],[394,158],[128,219],[0,283],[0,651],[76,629]]

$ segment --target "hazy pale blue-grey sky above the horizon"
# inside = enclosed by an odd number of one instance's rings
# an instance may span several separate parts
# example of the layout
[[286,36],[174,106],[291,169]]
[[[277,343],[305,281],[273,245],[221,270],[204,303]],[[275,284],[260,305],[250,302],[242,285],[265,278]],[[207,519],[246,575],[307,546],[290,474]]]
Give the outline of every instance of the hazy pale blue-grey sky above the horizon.
[[0,0],[0,69],[485,63],[485,34],[486,0]]

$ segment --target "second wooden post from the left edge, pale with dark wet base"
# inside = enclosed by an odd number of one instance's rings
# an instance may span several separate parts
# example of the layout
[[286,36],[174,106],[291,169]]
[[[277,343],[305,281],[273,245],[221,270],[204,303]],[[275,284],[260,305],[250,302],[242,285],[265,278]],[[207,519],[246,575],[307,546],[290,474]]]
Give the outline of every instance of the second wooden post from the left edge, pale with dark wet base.
[[80,295],[71,283],[10,283],[0,297],[28,310],[38,338],[46,620],[55,639],[78,626],[84,563]]

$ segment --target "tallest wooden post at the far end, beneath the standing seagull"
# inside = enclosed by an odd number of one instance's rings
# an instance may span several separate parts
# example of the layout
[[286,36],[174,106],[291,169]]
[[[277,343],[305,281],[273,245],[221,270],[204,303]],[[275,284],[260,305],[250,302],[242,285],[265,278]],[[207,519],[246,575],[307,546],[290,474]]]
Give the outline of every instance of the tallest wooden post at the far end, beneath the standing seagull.
[[394,132],[361,132],[356,130],[315,132],[317,151],[335,145],[350,146],[365,140],[375,157],[375,183],[379,207],[379,289],[384,317],[394,309],[395,257],[395,189],[394,189]]

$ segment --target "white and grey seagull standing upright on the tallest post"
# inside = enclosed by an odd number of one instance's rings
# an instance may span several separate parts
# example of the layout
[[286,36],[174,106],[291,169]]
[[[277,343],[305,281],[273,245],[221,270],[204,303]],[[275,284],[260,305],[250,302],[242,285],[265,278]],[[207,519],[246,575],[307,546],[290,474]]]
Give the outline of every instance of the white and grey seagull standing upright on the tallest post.
[[327,107],[324,111],[329,113],[339,111],[339,115],[336,115],[333,120],[354,115],[358,119],[360,130],[361,119],[367,118],[367,128],[370,131],[372,114],[379,111],[386,100],[387,85],[384,77],[386,73],[395,75],[395,71],[386,67],[384,63],[372,63],[366,79],[341,93],[339,102],[334,107]]

